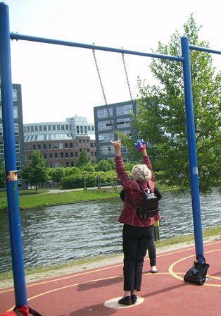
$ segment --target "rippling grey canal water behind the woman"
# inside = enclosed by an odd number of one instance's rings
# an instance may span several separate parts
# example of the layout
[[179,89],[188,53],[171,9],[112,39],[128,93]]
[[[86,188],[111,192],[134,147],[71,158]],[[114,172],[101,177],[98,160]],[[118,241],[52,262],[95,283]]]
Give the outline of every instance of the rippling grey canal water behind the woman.
[[[21,211],[25,268],[122,253],[120,199]],[[201,196],[203,229],[221,225],[217,192]],[[160,200],[160,238],[193,233],[191,196],[174,191]],[[0,212],[0,272],[11,269],[8,214]]]

